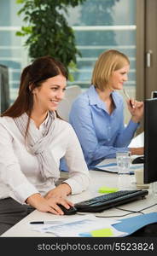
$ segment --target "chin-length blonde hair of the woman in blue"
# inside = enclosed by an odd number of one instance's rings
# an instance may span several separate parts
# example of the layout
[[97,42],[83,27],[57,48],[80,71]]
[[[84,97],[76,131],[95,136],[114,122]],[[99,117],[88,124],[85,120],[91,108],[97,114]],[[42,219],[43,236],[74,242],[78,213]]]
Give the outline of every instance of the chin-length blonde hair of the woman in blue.
[[99,90],[104,90],[108,86],[113,72],[129,64],[128,57],[116,49],[103,52],[96,61],[91,84],[94,84]]

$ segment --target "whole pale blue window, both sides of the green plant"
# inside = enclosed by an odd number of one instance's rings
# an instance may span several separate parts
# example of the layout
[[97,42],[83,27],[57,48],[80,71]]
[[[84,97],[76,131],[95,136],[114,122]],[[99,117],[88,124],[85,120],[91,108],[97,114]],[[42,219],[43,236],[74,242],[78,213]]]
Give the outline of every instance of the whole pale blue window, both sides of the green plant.
[[[0,64],[9,67],[11,102],[17,96],[21,69],[27,65],[25,38],[15,36],[22,25],[17,16],[20,6],[11,0],[0,2]],[[7,16],[5,14],[8,14]],[[93,66],[98,55],[106,49],[119,49],[129,56],[129,94],[136,92],[136,0],[87,0],[75,9],[69,9],[67,20],[73,26],[78,56],[74,81],[83,89],[90,86]]]

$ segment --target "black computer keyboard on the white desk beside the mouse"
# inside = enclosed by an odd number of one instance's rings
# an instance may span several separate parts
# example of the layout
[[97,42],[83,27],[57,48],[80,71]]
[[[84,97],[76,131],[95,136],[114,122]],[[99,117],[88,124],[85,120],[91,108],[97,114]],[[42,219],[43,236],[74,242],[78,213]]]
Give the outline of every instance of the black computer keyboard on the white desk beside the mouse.
[[78,212],[102,212],[130,201],[145,198],[148,190],[119,190],[117,192],[96,196],[90,200],[80,201],[74,205]]

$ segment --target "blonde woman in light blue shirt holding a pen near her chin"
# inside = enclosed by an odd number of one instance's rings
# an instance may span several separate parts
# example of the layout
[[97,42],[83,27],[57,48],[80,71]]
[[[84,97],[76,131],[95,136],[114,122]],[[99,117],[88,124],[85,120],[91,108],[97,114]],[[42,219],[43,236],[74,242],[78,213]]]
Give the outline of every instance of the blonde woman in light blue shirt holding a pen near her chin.
[[[102,53],[93,70],[90,89],[73,102],[70,123],[81,143],[84,158],[95,166],[117,151],[128,149],[143,114],[143,102],[127,102],[131,113],[124,126],[124,102],[116,90],[122,90],[128,79],[130,61],[115,49]],[[130,148],[131,154],[143,154],[143,148]]]

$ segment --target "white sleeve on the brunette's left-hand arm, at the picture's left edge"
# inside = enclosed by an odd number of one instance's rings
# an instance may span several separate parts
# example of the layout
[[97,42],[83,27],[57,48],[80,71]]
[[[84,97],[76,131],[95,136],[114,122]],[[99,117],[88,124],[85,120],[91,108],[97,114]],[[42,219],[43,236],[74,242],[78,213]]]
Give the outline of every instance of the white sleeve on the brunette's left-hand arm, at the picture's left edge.
[[39,192],[21,172],[20,164],[14,154],[14,139],[2,124],[0,124],[0,138],[0,182],[9,188],[10,197],[24,204],[26,198]]

